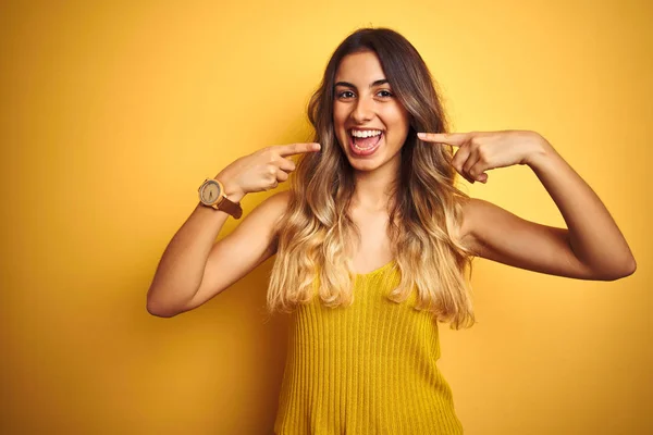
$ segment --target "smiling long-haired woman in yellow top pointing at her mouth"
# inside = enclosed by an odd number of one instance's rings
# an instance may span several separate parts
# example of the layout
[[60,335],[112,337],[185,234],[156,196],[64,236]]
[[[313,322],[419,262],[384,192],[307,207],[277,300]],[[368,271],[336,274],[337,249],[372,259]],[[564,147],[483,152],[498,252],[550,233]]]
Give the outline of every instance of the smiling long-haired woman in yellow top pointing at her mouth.
[[[601,200],[541,135],[446,134],[423,60],[391,29],[364,28],[340,45],[309,119],[315,144],[268,147],[215,176],[224,203],[295,172],[291,189],[215,244],[234,213],[205,199],[148,291],[152,314],[176,315],[276,253],[268,308],[293,312],[293,322],[275,433],[463,433],[436,368],[438,322],[473,325],[465,270],[475,257],[580,279],[636,270]],[[486,183],[486,171],[515,164],[533,170],[568,229],[454,185],[456,172]]]

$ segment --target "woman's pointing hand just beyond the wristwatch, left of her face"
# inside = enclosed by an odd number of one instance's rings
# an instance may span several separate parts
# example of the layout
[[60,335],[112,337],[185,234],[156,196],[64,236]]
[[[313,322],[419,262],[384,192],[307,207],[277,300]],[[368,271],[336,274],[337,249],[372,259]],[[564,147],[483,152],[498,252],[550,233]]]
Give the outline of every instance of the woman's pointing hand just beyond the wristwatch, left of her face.
[[320,145],[291,144],[266,147],[244,156],[215,175],[224,186],[226,196],[243,197],[245,194],[275,188],[279,182],[288,179],[295,171],[295,162],[286,157],[304,152],[316,152]]

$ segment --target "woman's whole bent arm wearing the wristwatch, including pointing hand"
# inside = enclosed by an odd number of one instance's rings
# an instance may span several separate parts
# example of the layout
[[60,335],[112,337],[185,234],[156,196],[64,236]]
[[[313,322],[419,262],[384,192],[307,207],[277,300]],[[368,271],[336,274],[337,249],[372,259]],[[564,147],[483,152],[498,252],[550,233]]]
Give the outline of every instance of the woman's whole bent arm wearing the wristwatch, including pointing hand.
[[[234,202],[250,191],[269,190],[295,170],[285,156],[317,151],[313,144],[269,147],[236,160],[215,178]],[[229,214],[198,203],[176,232],[157,268],[147,293],[150,314],[171,318],[197,308],[270,258],[276,246],[273,227],[283,215],[288,192],[272,195],[236,228],[214,241]]]

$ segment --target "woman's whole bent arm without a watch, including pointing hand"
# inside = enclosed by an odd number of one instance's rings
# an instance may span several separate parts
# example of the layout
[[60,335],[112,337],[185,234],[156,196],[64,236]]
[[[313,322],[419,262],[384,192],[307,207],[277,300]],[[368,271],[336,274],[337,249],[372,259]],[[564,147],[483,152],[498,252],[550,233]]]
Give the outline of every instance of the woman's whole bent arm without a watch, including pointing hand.
[[452,164],[465,178],[486,183],[484,171],[532,169],[568,229],[522,220],[488,201],[466,206],[463,235],[480,257],[533,271],[613,281],[637,263],[624,235],[592,188],[540,134],[529,130],[427,134],[420,139],[459,147]]

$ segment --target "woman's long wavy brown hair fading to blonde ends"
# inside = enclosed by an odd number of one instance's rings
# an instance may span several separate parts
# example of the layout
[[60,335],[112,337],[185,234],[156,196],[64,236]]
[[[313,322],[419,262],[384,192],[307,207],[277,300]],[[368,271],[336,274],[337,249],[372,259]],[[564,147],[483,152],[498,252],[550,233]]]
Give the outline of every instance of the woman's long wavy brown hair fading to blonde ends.
[[[352,272],[360,232],[347,211],[354,169],[338,146],[333,126],[334,80],[344,57],[371,51],[385,78],[409,113],[410,127],[389,201],[387,236],[401,282],[389,299],[401,303],[417,291],[417,310],[432,312],[451,328],[475,323],[471,285],[465,278],[472,253],[457,238],[463,201],[454,185],[453,147],[421,142],[417,132],[445,133],[447,121],[435,83],[421,55],[398,33],[361,28],[334,51],[319,88],[310,98],[308,119],[321,150],[301,156],[289,178],[286,213],[276,222],[276,259],[268,288],[268,312],[292,312],[319,297],[326,307],[354,302]],[[315,291],[315,278],[320,285]]]

